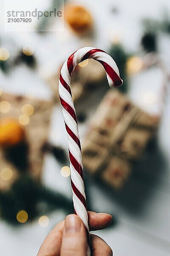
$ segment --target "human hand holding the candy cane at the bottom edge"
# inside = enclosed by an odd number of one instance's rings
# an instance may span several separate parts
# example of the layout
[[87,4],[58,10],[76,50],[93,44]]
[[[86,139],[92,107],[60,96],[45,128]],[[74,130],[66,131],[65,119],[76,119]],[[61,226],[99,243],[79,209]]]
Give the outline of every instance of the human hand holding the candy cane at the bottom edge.
[[[90,230],[101,230],[111,224],[112,216],[88,212]],[[87,237],[82,220],[75,214],[59,222],[43,241],[37,256],[86,256]],[[112,256],[111,247],[99,236],[90,234],[91,255]]]

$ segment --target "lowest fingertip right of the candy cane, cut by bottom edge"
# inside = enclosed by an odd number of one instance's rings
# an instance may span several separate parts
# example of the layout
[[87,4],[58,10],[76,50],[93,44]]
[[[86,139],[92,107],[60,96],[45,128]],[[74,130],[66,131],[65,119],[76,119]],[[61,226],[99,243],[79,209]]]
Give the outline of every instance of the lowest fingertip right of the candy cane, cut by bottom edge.
[[113,256],[111,247],[96,235],[90,235],[91,254],[93,256]]

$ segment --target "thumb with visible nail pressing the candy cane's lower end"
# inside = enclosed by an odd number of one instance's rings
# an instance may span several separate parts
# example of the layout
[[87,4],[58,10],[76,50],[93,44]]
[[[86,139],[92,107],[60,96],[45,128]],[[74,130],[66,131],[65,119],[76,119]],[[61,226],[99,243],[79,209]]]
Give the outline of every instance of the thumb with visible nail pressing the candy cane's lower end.
[[82,220],[75,214],[65,218],[61,256],[86,256],[87,238]]

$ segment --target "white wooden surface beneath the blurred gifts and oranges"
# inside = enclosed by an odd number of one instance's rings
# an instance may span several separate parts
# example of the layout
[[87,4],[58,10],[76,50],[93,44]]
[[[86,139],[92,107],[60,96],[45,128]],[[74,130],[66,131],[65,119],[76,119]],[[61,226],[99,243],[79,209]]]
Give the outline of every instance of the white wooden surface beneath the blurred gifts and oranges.
[[[93,46],[106,50],[110,46],[111,39],[116,35],[127,51],[138,52],[142,34],[141,18],[161,18],[164,8],[170,11],[168,0],[86,0],[81,2],[88,6],[94,15],[96,38]],[[113,7],[118,9],[118,15],[113,15],[111,12]],[[2,27],[0,29],[2,36],[3,29]],[[8,41],[9,37],[16,43],[15,47]],[[75,38],[67,29],[64,32],[48,33],[44,36],[36,33],[6,33],[3,40],[3,47],[11,47],[10,54],[12,55],[23,45],[32,44],[40,72],[39,70],[31,71],[22,65],[13,70],[9,76],[0,73],[0,87],[4,91],[14,93],[25,94],[26,91],[31,91],[34,95],[45,99],[51,97],[51,92],[43,81],[42,75],[56,70],[69,54],[84,46],[82,40]],[[169,45],[170,37],[161,34],[159,50],[167,68],[168,65],[170,67]],[[147,83],[148,79],[150,79],[149,83]],[[130,97],[140,101],[142,93],[148,89],[154,91],[155,85],[159,87],[160,81],[161,74],[156,69],[133,77],[130,84]],[[117,220],[116,226],[96,232],[108,242],[116,256],[170,255],[169,113],[170,94],[167,93],[157,149],[137,167],[136,173],[131,177],[123,192],[115,193],[102,189],[88,180],[88,192],[94,209],[98,212],[110,212]],[[81,138],[86,129],[86,124],[79,125]],[[54,109],[49,139],[67,148],[60,106]],[[52,156],[47,156],[43,167],[43,183],[71,198],[70,181],[69,178],[61,176],[61,167]],[[52,212],[48,216],[49,225],[45,228],[39,226],[38,219],[32,223],[23,224],[20,228],[12,228],[1,220],[0,254],[5,256],[36,255],[47,233],[64,217],[62,211]]]

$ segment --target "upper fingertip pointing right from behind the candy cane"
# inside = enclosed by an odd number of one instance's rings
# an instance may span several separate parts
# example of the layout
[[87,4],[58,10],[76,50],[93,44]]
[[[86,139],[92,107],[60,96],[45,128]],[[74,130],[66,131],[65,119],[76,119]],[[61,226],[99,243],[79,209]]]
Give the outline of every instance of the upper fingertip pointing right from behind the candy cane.
[[90,230],[101,230],[111,224],[112,216],[107,213],[88,212]]

